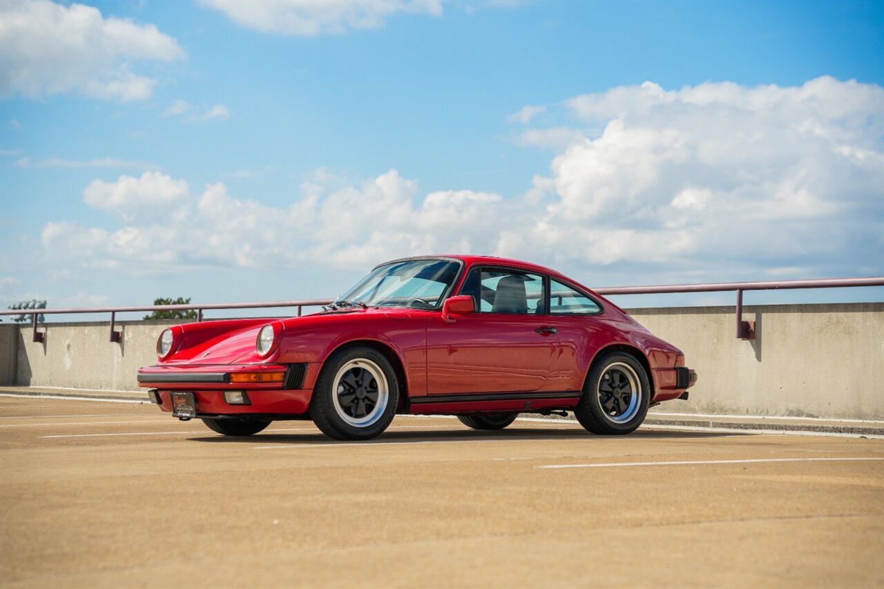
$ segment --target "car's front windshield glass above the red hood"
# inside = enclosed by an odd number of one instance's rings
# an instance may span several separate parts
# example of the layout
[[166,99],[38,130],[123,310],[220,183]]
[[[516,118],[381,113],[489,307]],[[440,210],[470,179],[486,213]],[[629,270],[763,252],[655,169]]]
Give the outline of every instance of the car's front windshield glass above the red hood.
[[451,289],[460,264],[450,260],[394,261],[378,266],[334,306],[434,309]]

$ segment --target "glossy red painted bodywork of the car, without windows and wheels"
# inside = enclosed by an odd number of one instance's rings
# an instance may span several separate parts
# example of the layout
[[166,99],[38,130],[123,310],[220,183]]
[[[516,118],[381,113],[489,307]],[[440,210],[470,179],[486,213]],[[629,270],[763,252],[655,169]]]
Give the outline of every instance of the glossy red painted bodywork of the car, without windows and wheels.
[[[347,307],[278,321],[191,323],[174,328],[178,347],[168,359],[139,371],[140,386],[160,390],[164,411],[171,411],[169,391],[176,389],[194,390],[198,414],[293,416],[307,412],[325,360],[341,346],[359,343],[382,349],[400,365],[403,394],[410,401],[402,404],[400,411],[412,413],[568,409],[577,403],[593,360],[614,349],[632,351],[644,362],[652,381],[652,401],[684,392],[675,388],[675,367],[684,365],[682,352],[591,289],[528,262],[443,257],[463,262],[449,296],[460,290],[469,269],[476,265],[514,268],[571,284],[595,298],[602,312],[452,313],[453,321],[445,321],[441,309]],[[277,340],[271,353],[261,357],[255,351],[257,335],[271,323]],[[301,389],[282,390],[279,383],[149,381],[149,374],[265,371],[298,364],[306,365]],[[223,390],[247,390],[252,404],[226,404]],[[531,398],[499,398],[508,393],[529,394]],[[461,399],[466,395],[471,398]],[[485,400],[482,395],[494,398]]]

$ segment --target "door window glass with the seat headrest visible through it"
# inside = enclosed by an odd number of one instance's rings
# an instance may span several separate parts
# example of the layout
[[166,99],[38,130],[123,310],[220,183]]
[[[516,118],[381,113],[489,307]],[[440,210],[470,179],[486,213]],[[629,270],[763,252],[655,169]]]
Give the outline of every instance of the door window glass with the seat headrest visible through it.
[[544,278],[502,268],[476,268],[467,276],[461,294],[478,301],[479,313],[543,313]]

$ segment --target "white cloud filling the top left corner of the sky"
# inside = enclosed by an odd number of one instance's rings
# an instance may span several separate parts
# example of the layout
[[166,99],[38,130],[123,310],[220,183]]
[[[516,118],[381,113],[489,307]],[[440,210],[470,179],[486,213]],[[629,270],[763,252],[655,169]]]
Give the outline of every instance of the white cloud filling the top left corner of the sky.
[[74,93],[120,102],[144,100],[156,84],[131,72],[131,62],[185,58],[154,25],[48,0],[0,2],[0,55],[4,96]]

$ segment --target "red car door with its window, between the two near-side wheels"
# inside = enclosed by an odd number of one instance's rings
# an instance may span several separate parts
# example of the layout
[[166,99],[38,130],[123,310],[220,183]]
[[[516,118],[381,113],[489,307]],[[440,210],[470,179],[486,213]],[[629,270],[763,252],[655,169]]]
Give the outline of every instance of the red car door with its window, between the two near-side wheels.
[[555,330],[543,313],[544,276],[510,268],[473,268],[460,294],[476,312],[427,325],[429,395],[529,392],[545,387]]

